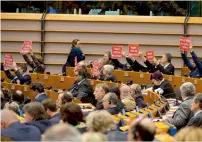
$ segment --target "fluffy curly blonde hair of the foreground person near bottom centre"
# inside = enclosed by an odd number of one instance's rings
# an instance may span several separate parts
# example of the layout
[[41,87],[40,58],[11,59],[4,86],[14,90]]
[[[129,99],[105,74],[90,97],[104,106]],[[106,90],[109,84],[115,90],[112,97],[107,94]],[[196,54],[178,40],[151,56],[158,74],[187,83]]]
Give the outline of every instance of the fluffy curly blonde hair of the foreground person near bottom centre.
[[105,133],[115,128],[112,115],[106,110],[93,111],[86,117],[87,128],[93,132]]

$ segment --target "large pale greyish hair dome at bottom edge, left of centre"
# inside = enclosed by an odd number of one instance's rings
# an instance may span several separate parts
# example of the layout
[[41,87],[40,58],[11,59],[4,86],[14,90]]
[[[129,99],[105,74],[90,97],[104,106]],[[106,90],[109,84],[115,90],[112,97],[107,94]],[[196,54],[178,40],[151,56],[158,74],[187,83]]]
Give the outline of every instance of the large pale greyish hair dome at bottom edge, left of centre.
[[56,124],[43,135],[43,141],[75,141],[81,142],[79,131],[69,124]]

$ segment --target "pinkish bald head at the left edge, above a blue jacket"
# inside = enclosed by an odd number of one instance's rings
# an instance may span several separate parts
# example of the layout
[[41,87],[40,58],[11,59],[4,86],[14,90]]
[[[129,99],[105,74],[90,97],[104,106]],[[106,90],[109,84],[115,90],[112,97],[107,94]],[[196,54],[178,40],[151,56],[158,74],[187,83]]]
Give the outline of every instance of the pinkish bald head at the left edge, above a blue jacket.
[[3,109],[1,110],[0,115],[1,115],[1,128],[8,128],[10,124],[18,121],[15,112],[11,110]]

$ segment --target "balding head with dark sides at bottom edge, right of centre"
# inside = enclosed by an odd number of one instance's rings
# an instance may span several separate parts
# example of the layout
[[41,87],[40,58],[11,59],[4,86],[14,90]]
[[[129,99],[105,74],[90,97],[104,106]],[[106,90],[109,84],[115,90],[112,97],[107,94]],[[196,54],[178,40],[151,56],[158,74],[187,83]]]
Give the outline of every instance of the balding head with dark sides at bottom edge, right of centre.
[[156,133],[154,123],[148,118],[135,119],[129,128],[129,141],[153,141]]

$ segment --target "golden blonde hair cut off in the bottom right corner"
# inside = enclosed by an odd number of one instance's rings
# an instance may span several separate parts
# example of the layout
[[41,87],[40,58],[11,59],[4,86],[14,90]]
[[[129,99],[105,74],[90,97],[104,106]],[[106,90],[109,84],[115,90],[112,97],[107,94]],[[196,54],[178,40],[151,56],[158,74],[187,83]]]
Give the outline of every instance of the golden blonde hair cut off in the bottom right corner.
[[185,127],[174,137],[176,141],[202,141],[202,129],[197,127]]

